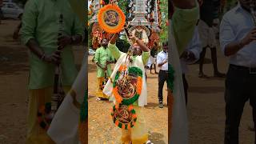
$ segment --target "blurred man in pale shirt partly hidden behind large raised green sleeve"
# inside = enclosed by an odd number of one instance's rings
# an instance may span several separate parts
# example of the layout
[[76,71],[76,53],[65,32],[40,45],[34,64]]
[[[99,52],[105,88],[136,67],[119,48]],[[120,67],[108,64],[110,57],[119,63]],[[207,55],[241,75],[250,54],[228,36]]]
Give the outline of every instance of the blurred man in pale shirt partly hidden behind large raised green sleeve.
[[182,53],[182,56],[180,58],[181,66],[182,66],[182,78],[183,78],[186,104],[187,104],[187,90],[189,88],[189,85],[186,81],[186,74],[188,73],[187,65],[198,61],[201,51],[202,51],[201,40],[199,38],[198,26],[196,26],[194,29],[193,38],[190,41],[189,46],[187,46],[186,50]]

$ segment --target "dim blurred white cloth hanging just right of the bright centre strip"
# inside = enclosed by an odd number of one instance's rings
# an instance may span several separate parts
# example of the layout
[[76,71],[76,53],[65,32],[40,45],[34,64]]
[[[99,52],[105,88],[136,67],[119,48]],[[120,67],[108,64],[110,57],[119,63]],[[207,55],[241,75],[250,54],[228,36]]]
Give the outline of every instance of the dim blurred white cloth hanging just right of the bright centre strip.
[[[169,23],[170,20],[169,20]],[[174,105],[172,112],[172,127],[170,130],[171,144],[187,144],[188,143],[188,122],[186,115],[185,93],[182,83],[182,70],[176,42],[172,30],[169,29],[169,54],[168,62],[174,68]]]

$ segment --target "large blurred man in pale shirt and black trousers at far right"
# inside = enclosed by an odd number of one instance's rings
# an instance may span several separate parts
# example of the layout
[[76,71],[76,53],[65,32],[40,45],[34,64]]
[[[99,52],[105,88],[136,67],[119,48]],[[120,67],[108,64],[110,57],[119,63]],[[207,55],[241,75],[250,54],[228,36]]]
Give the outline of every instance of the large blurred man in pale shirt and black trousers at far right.
[[256,27],[250,13],[251,1],[239,2],[224,15],[220,27],[222,52],[230,58],[225,91],[225,144],[238,144],[239,123],[243,107],[249,99],[256,126]]

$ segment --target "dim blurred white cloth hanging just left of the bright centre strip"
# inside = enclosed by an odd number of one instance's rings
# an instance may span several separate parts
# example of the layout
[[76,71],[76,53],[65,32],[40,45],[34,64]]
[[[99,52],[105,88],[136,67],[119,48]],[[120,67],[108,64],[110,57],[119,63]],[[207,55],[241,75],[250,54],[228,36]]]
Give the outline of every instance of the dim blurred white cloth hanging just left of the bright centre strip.
[[[87,54],[87,53],[86,53]],[[80,104],[83,102],[87,87],[87,56],[83,59],[81,70],[74,81],[71,90],[75,92],[76,101]],[[80,109],[74,106],[74,99],[70,92],[66,94],[62,105],[58,108],[54,119],[47,131],[50,138],[57,144],[78,144],[78,124]]]

